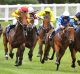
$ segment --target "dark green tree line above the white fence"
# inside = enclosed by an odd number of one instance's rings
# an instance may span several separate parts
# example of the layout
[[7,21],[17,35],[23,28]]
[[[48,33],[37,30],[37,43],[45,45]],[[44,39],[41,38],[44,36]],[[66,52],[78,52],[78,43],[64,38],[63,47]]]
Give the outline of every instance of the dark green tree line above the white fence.
[[0,0],[0,4],[80,3],[80,0]]

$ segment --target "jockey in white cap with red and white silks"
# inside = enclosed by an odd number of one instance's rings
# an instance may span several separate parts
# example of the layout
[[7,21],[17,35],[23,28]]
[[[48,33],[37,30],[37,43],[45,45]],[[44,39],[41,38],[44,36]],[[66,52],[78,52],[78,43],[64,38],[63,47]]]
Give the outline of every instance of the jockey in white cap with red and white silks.
[[37,33],[36,26],[38,25],[38,19],[35,13],[36,11],[34,10],[33,7],[29,7],[28,10],[29,10],[29,15],[30,15],[30,22],[33,25],[33,28],[36,30],[36,33]]

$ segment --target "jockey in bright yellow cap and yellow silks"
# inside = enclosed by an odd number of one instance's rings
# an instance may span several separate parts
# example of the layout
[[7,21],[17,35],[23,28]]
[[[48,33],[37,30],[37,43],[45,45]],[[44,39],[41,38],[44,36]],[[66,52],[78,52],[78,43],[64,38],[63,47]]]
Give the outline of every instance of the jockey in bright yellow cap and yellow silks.
[[[50,25],[54,28],[53,23],[55,23],[55,18],[53,15],[53,11],[47,7],[44,10],[38,12],[36,14],[39,18],[44,18],[45,15],[49,15],[50,16]],[[43,23],[39,26],[38,32],[40,31],[41,27],[43,26]]]

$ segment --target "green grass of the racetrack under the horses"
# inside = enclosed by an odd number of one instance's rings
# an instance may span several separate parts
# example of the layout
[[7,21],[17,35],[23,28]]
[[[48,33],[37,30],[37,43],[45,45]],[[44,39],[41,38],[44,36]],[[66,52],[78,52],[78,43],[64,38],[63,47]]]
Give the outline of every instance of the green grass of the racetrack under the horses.
[[[11,22],[1,22],[3,28]],[[45,64],[41,64],[39,58],[36,57],[38,52],[38,44],[36,45],[33,53],[33,61],[28,60],[28,51],[26,48],[24,53],[23,65],[20,67],[15,67],[15,56],[13,59],[5,60],[3,38],[0,38],[0,74],[80,74],[80,67],[76,63],[76,68],[71,68],[71,56],[70,51],[67,49],[62,60],[59,71],[56,71],[55,59],[46,61]],[[14,49],[14,53],[16,49]],[[50,52],[51,56],[52,50]],[[77,53],[77,60],[80,54]]]

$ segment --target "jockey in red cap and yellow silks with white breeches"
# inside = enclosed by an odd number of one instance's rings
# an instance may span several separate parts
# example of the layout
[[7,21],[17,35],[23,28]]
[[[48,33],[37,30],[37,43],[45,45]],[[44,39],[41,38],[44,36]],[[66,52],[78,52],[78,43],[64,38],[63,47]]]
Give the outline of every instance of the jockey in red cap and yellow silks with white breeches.
[[27,13],[28,13],[28,8],[26,6],[23,6],[23,7],[19,8],[19,9],[15,10],[11,14],[14,17],[13,25],[9,24],[7,26],[7,33],[9,33],[10,29],[15,27],[19,17],[21,17],[22,15],[26,15],[26,21],[25,21],[25,23],[22,22],[22,24],[24,25],[24,24],[26,24],[26,22],[29,23],[29,19],[28,19],[29,15]]

